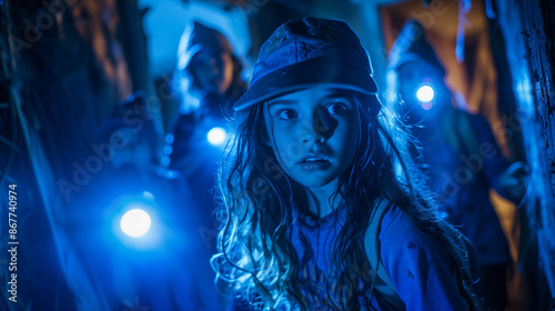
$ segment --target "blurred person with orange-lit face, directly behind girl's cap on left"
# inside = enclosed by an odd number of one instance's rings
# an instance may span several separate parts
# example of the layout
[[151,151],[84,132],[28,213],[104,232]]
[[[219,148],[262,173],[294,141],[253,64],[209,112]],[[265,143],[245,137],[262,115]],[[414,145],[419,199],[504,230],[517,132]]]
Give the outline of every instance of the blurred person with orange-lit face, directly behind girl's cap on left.
[[[181,173],[199,208],[193,224],[195,238],[203,243],[196,254],[199,278],[213,280],[210,257],[216,251],[216,228],[212,217],[212,189],[221,150],[226,142],[226,120],[222,110],[233,106],[246,84],[241,79],[242,64],[231,44],[220,32],[194,22],[182,34],[178,51],[175,81],[182,94],[182,111],[170,129],[170,168]],[[210,136],[209,136],[210,133]],[[212,277],[210,277],[212,275]],[[212,301],[220,301],[215,289]]]

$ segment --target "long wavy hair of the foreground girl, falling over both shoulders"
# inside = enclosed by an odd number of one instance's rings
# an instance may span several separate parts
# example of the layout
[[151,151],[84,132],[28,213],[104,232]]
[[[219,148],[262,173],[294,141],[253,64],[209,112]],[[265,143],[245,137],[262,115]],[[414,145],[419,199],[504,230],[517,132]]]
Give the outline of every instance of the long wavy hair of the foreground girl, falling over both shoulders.
[[[478,308],[471,289],[468,254],[461,235],[442,220],[426,199],[406,143],[408,132],[376,96],[353,92],[360,116],[360,140],[351,165],[339,177],[332,195],[345,202],[346,220],[337,232],[327,271],[327,298],[337,310],[360,310],[352,267],[369,267],[364,237],[372,212],[389,200],[414,224],[442,241],[458,265],[461,292]],[[233,298],[258,309],[309,310],[299,282],[299,258],[289,239],[293,222],[294,181],[285,173],[264,124],[264,103],[234,116],[235,133],[219,170],[219,252],[212,258],[216,281]],[[337,211],[334,211],[337,212]],[[325,272],[325,271],[324,271]],[[333,277],[331,277],[333,275]],[[330,278],[336,289],[331,293]]]

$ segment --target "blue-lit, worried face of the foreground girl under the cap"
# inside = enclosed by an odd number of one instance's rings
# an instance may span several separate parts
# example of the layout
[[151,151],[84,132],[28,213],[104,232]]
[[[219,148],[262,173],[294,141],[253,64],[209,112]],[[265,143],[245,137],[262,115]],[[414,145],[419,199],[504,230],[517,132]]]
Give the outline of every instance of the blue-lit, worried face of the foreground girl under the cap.
[[361,126],[352,93],[313,87],[270,100],[264,109],[272,148],[302,185],[326,185],[353,161]]

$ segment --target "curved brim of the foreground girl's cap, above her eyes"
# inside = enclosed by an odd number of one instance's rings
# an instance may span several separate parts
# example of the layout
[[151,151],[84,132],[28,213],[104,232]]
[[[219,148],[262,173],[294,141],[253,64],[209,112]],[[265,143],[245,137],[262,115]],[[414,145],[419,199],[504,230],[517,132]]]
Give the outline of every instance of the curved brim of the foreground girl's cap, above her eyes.
[[241,97],[235,111],[269,100],[281,94],[303,90],[314,86],[351,90],[375,94],[376,83],[369,72],[335,63],[295,63],[272,71],[254,82]]

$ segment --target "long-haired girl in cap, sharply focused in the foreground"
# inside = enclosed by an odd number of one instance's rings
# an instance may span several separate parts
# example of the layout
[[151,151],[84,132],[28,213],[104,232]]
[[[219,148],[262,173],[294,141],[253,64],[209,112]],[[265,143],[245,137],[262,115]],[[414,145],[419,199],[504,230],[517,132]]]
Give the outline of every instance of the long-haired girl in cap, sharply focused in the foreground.
[[412,182],[359,37],[305,18],[262,47],[219,174],[235,300],[279,310],[480,309],[461,234]]

